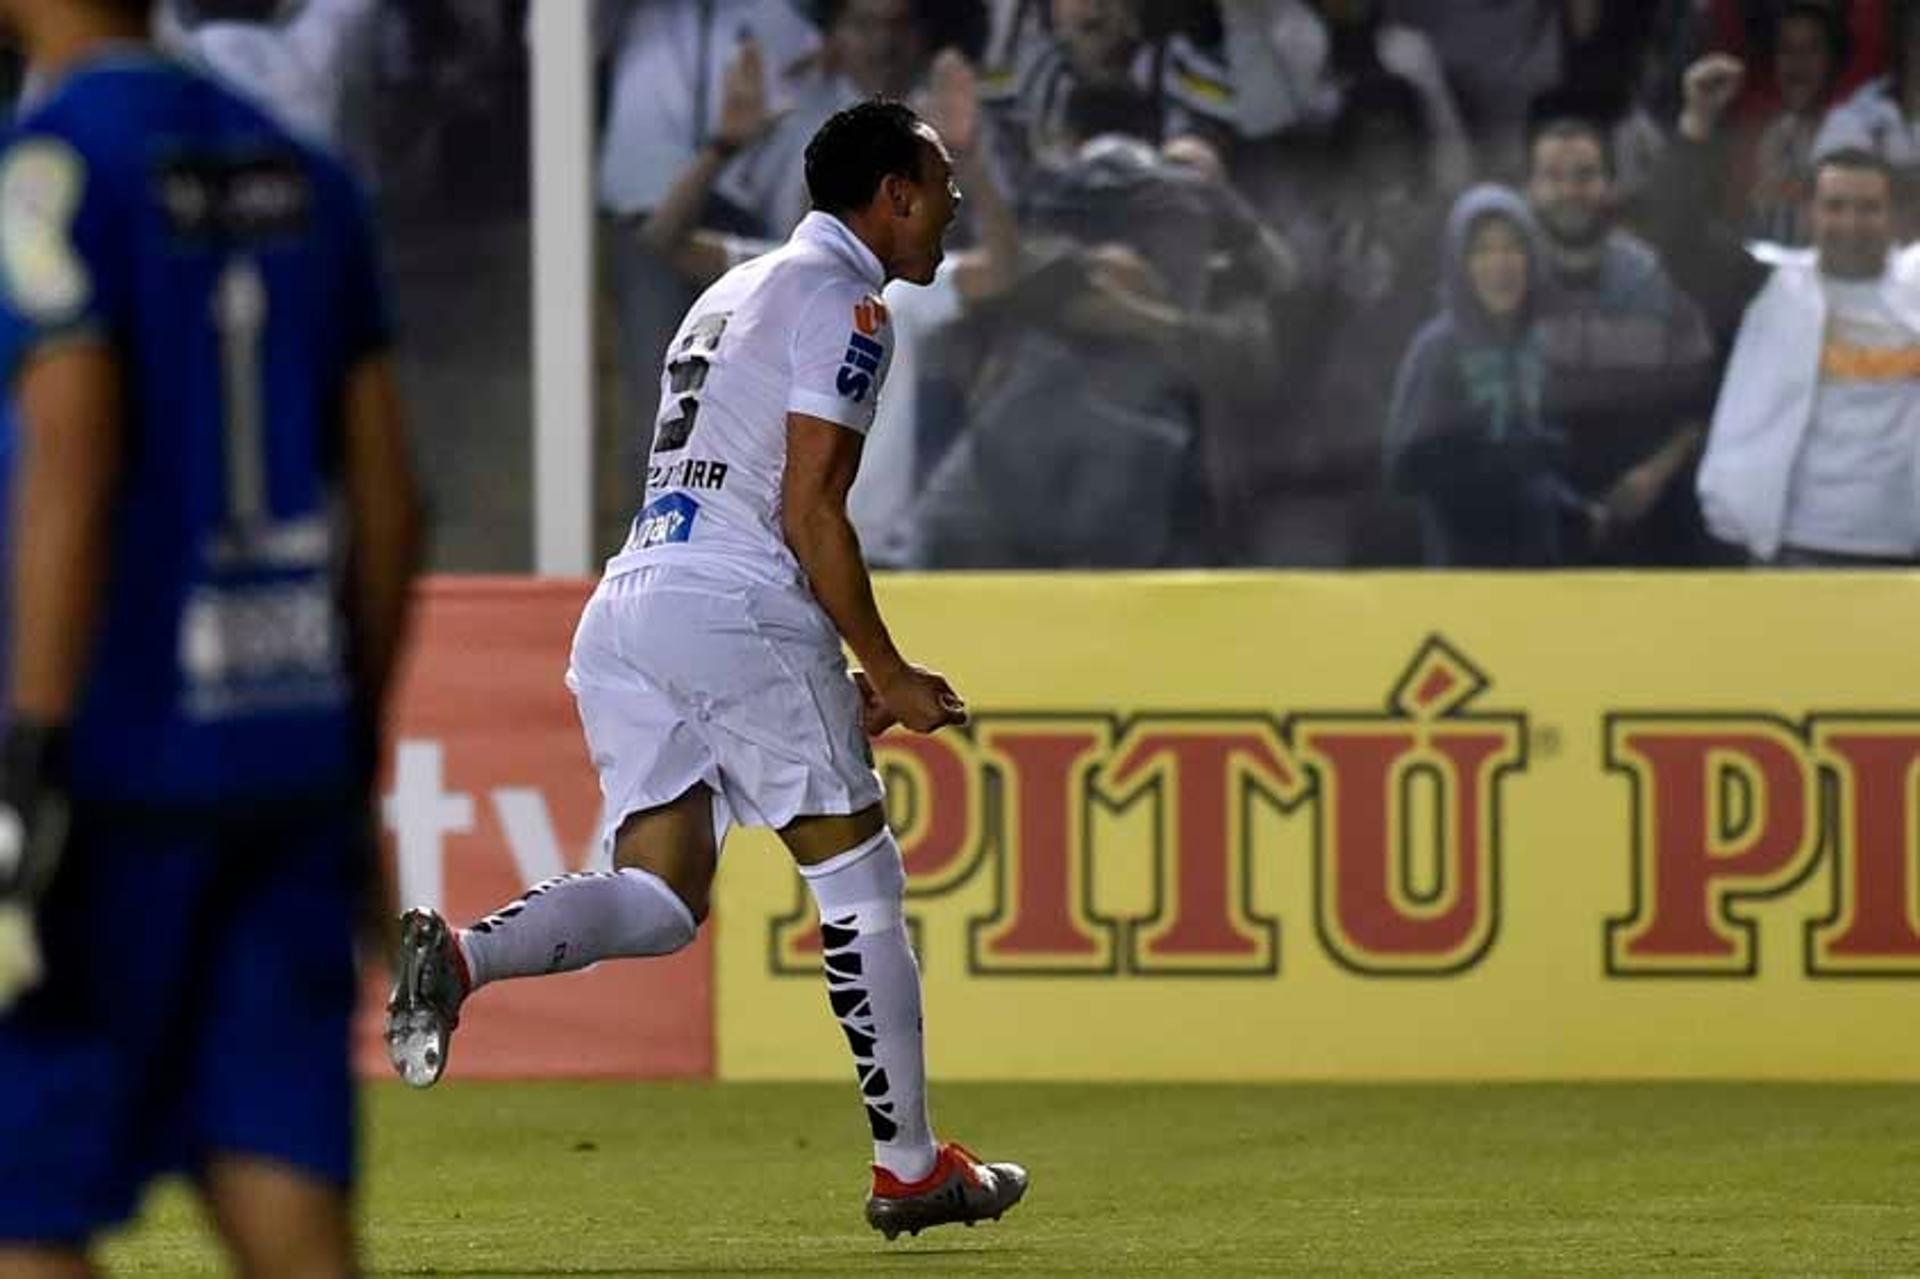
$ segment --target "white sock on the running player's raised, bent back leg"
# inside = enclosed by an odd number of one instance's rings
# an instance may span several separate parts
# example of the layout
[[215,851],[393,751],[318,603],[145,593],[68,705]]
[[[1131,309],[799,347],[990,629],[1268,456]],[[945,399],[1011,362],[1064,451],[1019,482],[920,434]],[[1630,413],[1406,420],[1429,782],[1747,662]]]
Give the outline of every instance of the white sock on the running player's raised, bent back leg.
[[501,977],[572,972],[603,958],[672,954],[699,931],[651,870],[593,870],[536,883],[459,931],[470,989]]

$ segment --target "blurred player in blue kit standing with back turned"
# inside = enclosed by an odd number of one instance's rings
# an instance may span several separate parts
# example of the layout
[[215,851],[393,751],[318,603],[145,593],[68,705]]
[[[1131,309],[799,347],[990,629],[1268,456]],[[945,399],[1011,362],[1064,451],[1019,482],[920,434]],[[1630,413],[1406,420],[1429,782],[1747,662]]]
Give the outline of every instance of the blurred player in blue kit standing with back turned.
[[163,1171],[244,1273],[348,1275],[353,937],[420,538],[369,213],[156,56],[146,0],[0,23],[40,86],[0,148],[0,1275],[88,1273]]

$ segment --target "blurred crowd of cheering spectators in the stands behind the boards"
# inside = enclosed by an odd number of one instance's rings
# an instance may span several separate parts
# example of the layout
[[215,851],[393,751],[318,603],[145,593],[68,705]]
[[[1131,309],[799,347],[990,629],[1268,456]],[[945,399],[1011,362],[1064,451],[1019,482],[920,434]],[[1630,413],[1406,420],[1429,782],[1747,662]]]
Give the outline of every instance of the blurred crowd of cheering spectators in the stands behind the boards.
[[[524,98],[526,0],[165,8],[388,200],[459,190],[428,121],[486,117],[499,75]],[[626,497],[685,307],[804,215],[812,131],[887,94],[966,205],[935,284],[887,298],[854,490],[879,565],[1920,559],[1920,0],[601,0],[595,25]]]

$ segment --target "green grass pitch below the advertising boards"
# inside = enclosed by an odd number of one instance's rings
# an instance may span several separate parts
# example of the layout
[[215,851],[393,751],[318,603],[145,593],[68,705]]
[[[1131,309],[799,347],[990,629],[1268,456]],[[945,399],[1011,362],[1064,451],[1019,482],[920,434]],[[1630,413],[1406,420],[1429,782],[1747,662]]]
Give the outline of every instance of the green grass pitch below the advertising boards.
[[[851,1087],[369,1091],[390,1275],[1920,1273],[1920,1093],[1811,1085],[943,1085],[1004,1221],[868,1231]],[[157,1195],[113,1273],[217,1273]]]

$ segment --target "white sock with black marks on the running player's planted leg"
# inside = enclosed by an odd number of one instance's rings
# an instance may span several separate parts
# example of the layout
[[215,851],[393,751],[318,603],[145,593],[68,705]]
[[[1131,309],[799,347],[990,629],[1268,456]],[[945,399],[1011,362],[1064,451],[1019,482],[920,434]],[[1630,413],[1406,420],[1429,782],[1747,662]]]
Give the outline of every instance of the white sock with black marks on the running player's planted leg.
[[847,1031],[874,1162],[902,1181],[933,1171],[937,1150],[927,1120],[927,1062],[920,1024],[920,964],[906,941],[906,868],[893,832],[856,849],[803,866],[820,905],[828,999]]

